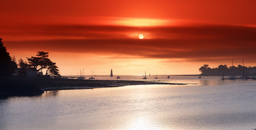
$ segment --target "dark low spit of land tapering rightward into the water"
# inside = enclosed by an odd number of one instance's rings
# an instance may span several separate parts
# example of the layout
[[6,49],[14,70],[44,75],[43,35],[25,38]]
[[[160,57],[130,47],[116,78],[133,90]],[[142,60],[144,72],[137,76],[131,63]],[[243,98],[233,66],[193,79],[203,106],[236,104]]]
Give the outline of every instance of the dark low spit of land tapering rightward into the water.
[[48,77],[0,77],[0,97],[41,95],[48,90],[93,89],[131,85],[186,85],[162,81],[77,80]]

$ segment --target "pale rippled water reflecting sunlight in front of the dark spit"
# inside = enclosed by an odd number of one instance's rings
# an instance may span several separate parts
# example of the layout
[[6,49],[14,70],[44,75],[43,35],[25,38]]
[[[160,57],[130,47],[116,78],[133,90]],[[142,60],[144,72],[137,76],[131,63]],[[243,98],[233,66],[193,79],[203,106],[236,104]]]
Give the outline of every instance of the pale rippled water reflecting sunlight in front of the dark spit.
[[188,77],[0,100],[0,129],[253,129],[256,81]]

